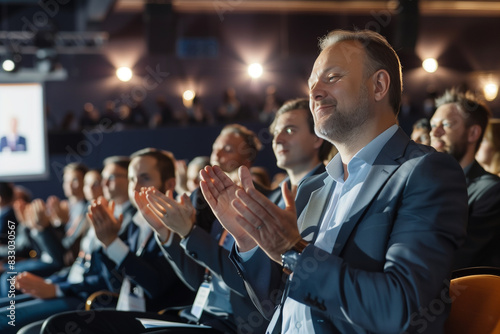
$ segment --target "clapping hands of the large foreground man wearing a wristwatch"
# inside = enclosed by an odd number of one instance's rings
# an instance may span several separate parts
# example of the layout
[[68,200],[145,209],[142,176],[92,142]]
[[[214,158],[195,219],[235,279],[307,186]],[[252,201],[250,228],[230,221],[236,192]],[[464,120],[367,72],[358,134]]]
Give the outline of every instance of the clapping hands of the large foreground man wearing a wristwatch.
[[281,264],[281,254],[300,239],[297,227],[294,193],[286,182],[281,190],[285,209],[279,208],[255,189],[248,168],[239,169],[241,187],[236,185],[218,166],[200,171],[203,196],[221,224],[232,234],[240,251],[258,245]]

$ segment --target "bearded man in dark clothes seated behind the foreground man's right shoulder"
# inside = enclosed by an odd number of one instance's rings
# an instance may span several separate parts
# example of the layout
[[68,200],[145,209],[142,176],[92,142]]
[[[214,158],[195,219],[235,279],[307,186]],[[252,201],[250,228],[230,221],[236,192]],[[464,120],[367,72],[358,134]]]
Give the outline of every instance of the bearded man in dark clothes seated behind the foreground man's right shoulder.
[[490,117],[471,92],[446,91],[436,99],[431,144],[454,157],[465,173],[469,195],[467,238],[457,250],[453,268],[500,267],[500,178],[475,160]]

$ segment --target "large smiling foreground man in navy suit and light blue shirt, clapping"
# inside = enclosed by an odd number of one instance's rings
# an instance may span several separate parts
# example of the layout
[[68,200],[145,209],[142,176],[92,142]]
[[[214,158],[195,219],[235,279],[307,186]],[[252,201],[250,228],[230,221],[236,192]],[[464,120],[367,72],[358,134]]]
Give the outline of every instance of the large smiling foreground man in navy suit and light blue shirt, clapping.
[[[297,199],[316,190],[298,220],[288,188],[283,210],[245,168],[237,199],[224,196],[237,186],[217,167],[202,171],[203,193],[235,238],[252,300],[272,316],[268,333],[443,333],[446,281],[465,238],[463,172],[397,125],[401,65],[385,38],[339,30],[320,47],[311,112],[339,153],[299,186]],[[284,288],[272,261],[288,275]]]

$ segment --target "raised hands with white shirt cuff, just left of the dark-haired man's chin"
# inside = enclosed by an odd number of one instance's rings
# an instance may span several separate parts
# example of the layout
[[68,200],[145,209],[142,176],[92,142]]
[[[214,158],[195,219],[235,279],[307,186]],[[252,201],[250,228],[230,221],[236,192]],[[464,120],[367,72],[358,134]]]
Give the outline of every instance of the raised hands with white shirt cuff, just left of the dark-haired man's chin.
[[109,246],[117,237],[122,226],[123,215],[114,216],[115,203],[99,197],[89,205],[87,217],[94,226],[97,238]]

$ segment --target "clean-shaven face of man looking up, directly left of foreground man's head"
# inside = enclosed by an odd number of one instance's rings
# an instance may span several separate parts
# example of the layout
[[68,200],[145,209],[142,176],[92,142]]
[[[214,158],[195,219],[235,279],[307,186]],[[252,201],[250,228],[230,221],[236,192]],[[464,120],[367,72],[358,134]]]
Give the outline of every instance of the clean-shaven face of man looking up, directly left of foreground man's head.
[[309,131],[309,110],[291,110],[281,114],[273,129],[273,151],[280,168],[310,164],[323,142]]

